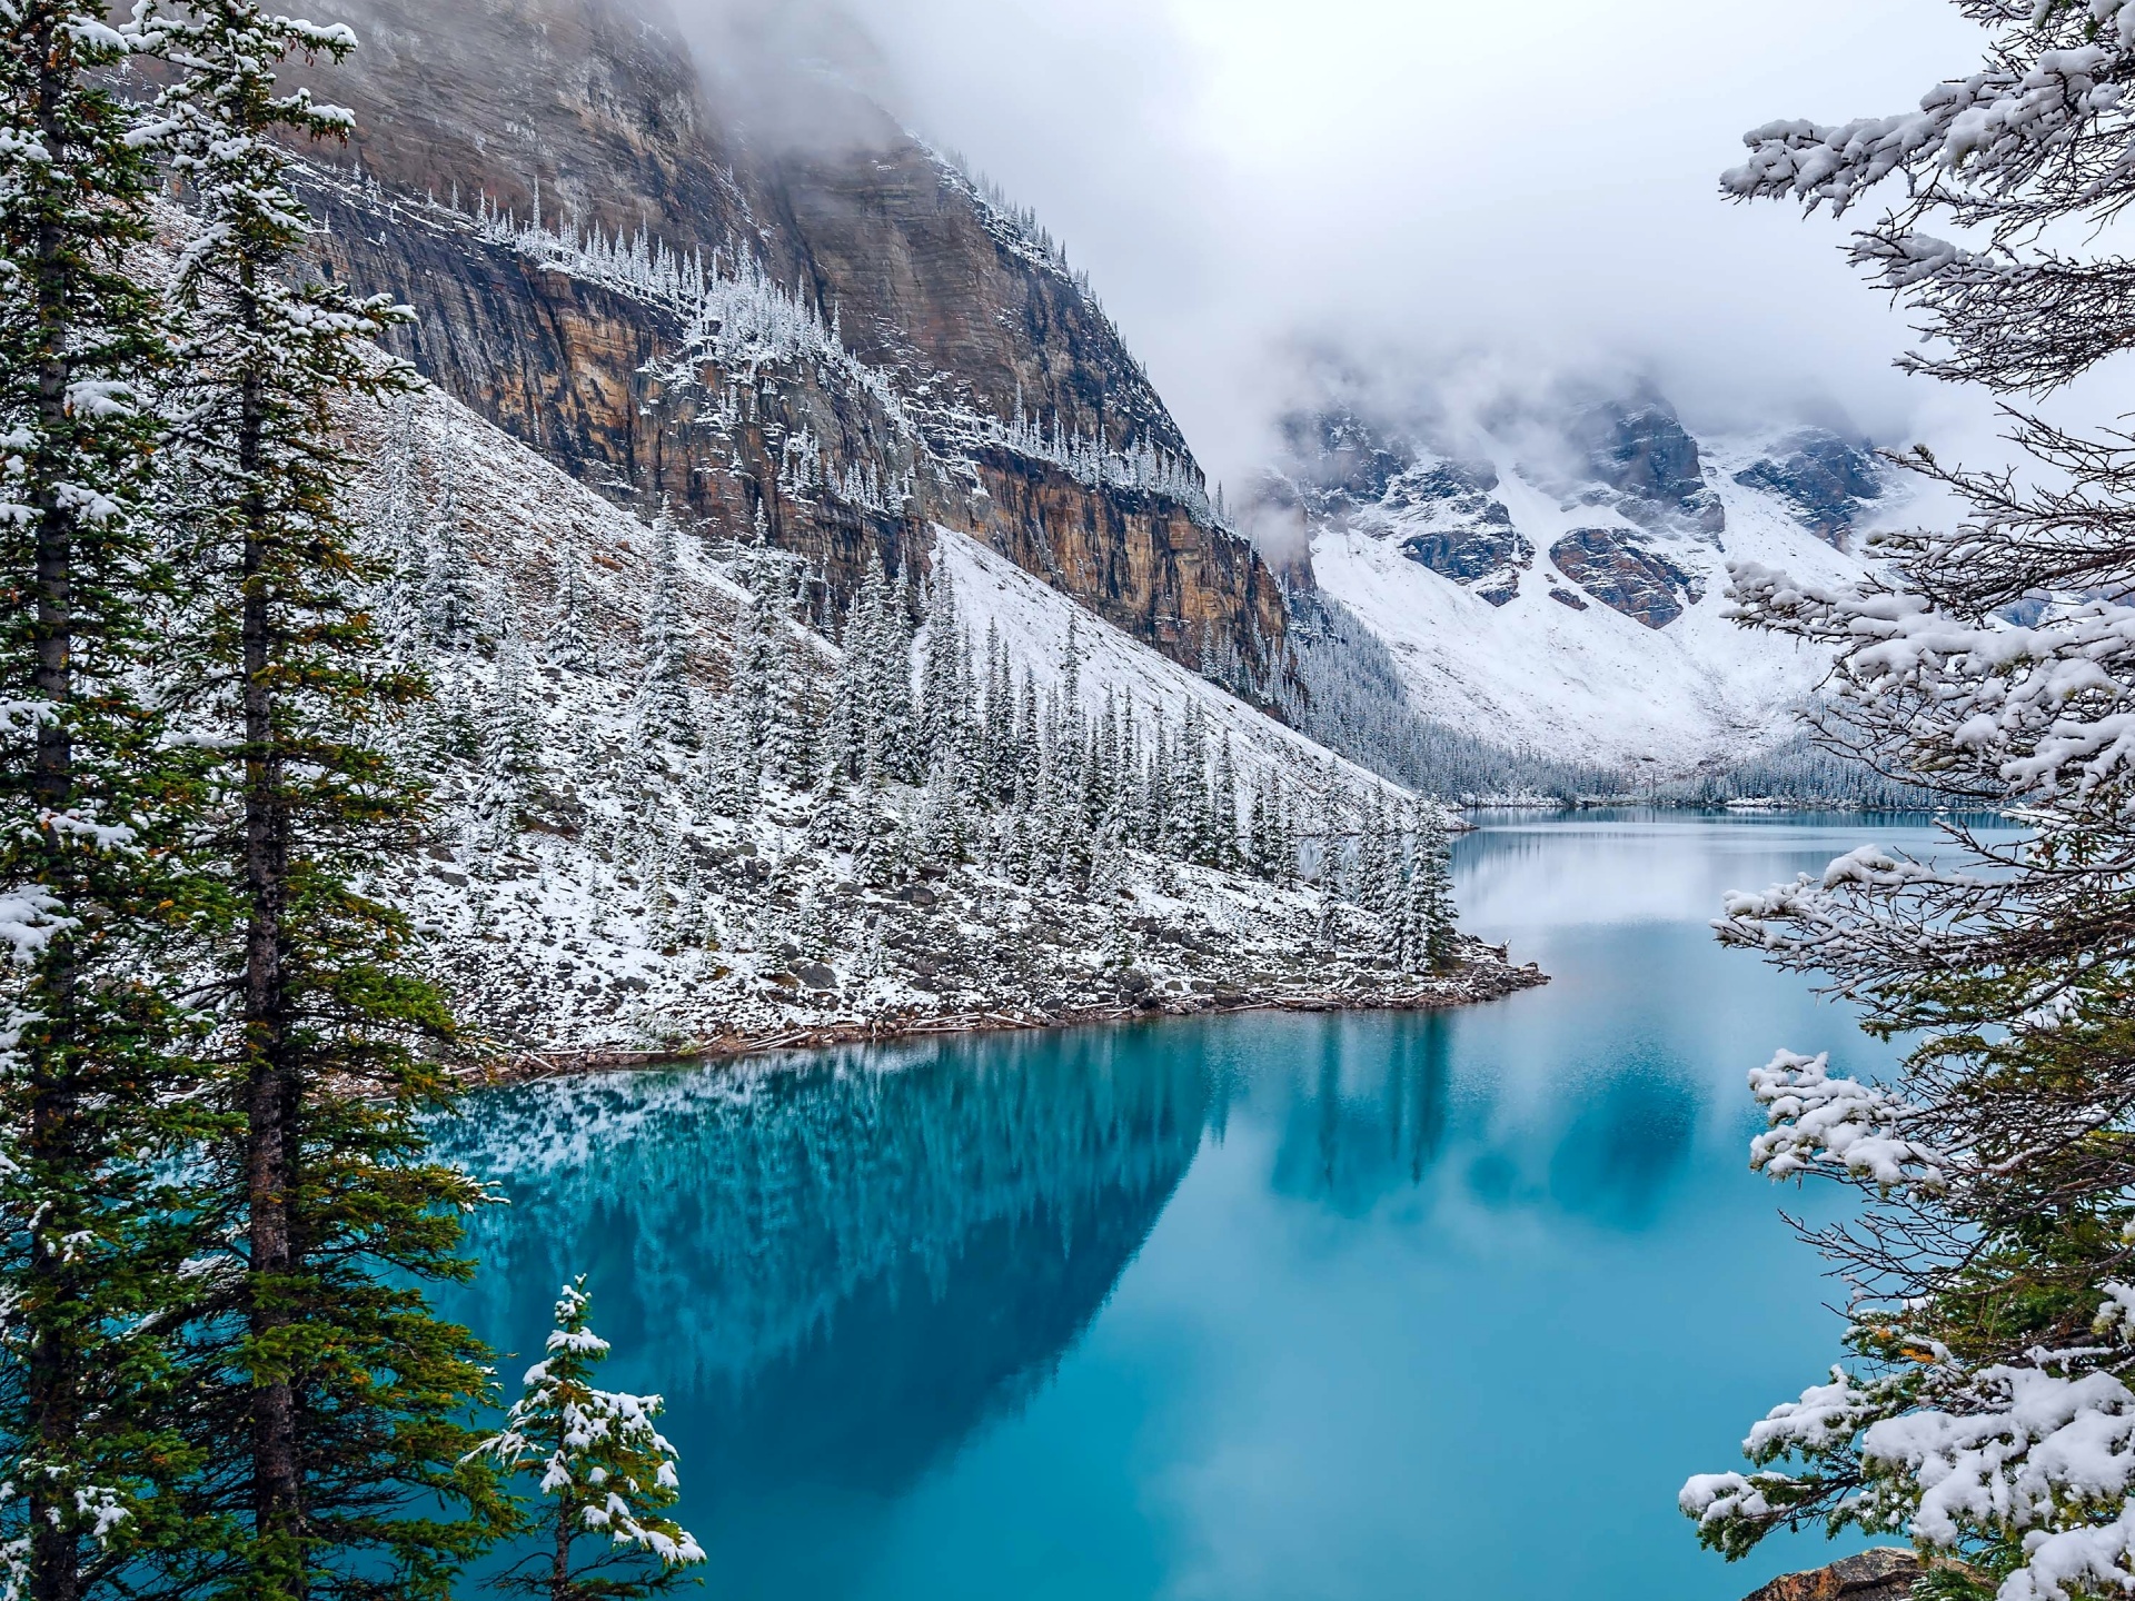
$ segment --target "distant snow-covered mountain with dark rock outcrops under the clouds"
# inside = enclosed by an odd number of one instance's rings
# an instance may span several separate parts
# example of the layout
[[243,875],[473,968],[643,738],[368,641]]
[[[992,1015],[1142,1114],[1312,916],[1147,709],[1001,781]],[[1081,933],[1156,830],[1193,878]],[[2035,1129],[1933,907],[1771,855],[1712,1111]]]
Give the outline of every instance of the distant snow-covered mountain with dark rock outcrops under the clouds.
[[1736,628],[1727,566],[1857,578],[1900,500],[1862,440],[1695,438],[1655,395],[1458,429],[1330,406],[1285,435],[1253,517],[1309,540],[1311,581],[1386,640],[1422,715],[1635,779],[1796,732],[1825,662]]

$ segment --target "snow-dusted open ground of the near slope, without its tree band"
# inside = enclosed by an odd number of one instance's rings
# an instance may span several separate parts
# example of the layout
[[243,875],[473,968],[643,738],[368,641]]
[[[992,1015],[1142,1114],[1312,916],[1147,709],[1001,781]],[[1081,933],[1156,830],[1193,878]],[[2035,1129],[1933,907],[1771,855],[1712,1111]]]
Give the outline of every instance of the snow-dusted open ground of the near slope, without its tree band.
[[[1243,862],[1106,837],[1102,860],[1072,867],[1061,841],[1080,813],[837,783],[820,754],[803,781],[792,722],[756,754],[760,777],[741,779],[732,711],[752,593],[732,574],[760,578],[756,564],[775,557],[670,534],[662,606],[658,529],[438,391],[406,410],[359,408],[350,433],[369,459],[363,519],[399,574],[380,611],[438,685],[393,732],[438,815],[376,888],[412,914],[429,971],[502,1048],[673,1052],[1245,1001],[1452,1003],[1539,982],[1473,944],[1454,971],[1398,971],[1379,918],[1232,871]],[[1085,707],[1132,692],[1144,728],[1159,709],[1176,728],[1198,704],[1232,734],[1240,788],[1283,771],[1292,815],[1347,815],[1358,790],[1383,788],[999,555],[944,534],[937,559],[965,621],[984,636],[995,619],[1040,685],[1059,679],[1074,619]],[[448,593],[465,621],[440,632]],[[649,670],[655,615],[679,636],[681,711]],[[813,717],[843,655],[796,623],[777,653],[760,683],[786,685],[788,719]],[[942,824],[950,811],[961,843]]]

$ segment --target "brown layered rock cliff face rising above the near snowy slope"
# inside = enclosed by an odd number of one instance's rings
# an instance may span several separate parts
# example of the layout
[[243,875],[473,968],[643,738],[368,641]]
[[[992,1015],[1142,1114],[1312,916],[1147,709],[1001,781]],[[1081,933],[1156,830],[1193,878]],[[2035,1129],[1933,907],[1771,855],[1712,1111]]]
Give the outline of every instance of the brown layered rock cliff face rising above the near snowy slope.
[[749,137],[613,0],[348,0],[322,267],[416,310],[425,376],[613,500],[758,510],[835,606],[969,532],[1185,662],[1279,657],[1281,593],[1050,239],[820,75]]

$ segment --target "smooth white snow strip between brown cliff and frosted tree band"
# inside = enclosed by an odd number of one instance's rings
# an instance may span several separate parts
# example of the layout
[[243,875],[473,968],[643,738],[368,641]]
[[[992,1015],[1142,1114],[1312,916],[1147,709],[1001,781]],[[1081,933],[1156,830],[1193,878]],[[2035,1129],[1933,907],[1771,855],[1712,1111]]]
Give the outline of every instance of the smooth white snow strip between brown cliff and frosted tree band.
[[1258,781],[1272,766],[1281,771],[1285,786],[1296,788],[1309,781],[1309,788],[1317,788],[1332,762],[1334,773],[1349,788],[1392,788],[1386,779],[1334,756],[1324,745],[1245,704],[1221,685],[1123,634],[1044,578],[1025,572],[967,534],[935,525],[935,570],[950,574],[956,587],[956,611],[971,632],[971,643],[982,649],[986,625],[993,623],[1018,670],[1029,666],[1040,694],[1061,681],[1072,621],[1085,707],[1095,709],[1106,689],[1132,698],[1142,711],[1161,707],[1164,715],[1174,722],[1189,704],[1198,704],[1208,719],[1211,743],[1230,734],[1240,775]]

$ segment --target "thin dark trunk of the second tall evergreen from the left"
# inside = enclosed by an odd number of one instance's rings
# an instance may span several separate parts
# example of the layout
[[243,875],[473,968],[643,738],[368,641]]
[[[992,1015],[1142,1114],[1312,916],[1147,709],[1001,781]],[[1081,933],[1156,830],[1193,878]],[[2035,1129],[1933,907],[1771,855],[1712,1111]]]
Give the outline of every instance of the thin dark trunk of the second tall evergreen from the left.
[[[239,273],[241,316],[256,327],[252,267]],[[282,800],[273,664],[273,574],[267,572],[267,504],[258,487],[267,421],[265,380],[243,378],[237,465],[243,495],[243,566],[239,643],[243,649],[246,724],[246,1204],[250,1210],[254,1343],[271,1343],[290,1321],[282,1281],[297,1272],[295,1187],[299,1148],[299,1082],[292,1061],[288,973],[284,965],[288,811]],[[282,1595],[303,1597],[310,1569],[303,1550],[303,1469],[297,1441],[297,1385],[288,1375],[252,1390],[252,1518],[263,1578]]]

